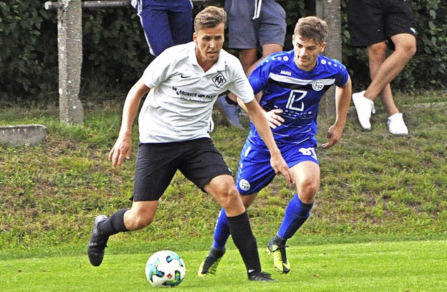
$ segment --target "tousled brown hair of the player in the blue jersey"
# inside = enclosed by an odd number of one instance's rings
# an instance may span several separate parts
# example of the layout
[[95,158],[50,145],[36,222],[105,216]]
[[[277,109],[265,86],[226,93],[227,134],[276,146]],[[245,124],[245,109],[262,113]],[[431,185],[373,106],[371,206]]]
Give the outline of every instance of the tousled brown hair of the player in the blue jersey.
[[328,36],[328,24],[315,16],[302,17],[295,25],[293,34],[316,43],[324,43]]

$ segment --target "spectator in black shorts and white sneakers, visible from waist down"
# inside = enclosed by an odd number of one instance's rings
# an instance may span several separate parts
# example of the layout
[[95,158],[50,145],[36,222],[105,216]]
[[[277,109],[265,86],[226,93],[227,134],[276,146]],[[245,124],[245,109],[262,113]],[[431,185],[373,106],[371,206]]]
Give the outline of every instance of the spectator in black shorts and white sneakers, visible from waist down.
[[[416,18],[406,0],[348,1],[348,25],[351,45],[367,48],[371,83],[363,92],[353,94],[358,120],[365,130],[371,129],[374,100],[381,96],[388,114],[388,130],[407,135],[402,113],[395,105],[390,82],[416,53]],[[388,57],[387,49],[394,50]]]

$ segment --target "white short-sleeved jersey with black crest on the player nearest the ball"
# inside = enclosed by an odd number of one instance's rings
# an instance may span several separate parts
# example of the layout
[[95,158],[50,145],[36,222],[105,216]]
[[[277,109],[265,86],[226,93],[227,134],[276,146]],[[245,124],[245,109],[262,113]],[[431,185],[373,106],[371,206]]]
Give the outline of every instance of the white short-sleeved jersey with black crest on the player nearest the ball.
[[240,61],[221,50],[210,70],[196,58],[196,43],[164,50],[147,66],[142,81],[147,94],[138,117],[140,143],[167,143],[210,137],[212,108],[217,96],[229,90],[244,103],[253,89]]

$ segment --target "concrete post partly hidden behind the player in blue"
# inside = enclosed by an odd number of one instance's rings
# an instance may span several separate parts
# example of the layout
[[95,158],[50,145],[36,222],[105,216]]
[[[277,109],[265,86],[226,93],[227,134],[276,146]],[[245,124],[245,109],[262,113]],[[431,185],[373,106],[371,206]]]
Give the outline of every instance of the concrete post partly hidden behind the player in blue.
[[[328,22],[329,35],[325,56],[342,61],[342,13],[340,0],[316,0],[316,15]],[[320,112],[326,117],[335,117],[335,87],[323,96]]]

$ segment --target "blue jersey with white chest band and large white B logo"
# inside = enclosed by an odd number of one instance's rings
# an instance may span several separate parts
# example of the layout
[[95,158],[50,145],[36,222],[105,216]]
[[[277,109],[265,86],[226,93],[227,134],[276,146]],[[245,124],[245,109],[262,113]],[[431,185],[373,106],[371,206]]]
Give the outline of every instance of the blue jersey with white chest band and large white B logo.
[[[315,140],[321,97],[331,85],[344,87],[349,80],[346,67],[335,59],[319,55],[312,71],[302,71],[293,58],[293,50],[271,54],[249,76],[254,93],[263,92],[259,103],[264,110],[283,111],[280,115],[284,122],[272,129],[279,147],[283,143]],[[266,148],[252,123],[248,138],[258,147]]]

